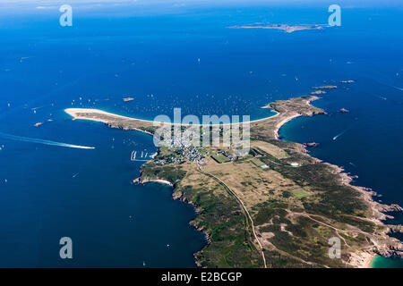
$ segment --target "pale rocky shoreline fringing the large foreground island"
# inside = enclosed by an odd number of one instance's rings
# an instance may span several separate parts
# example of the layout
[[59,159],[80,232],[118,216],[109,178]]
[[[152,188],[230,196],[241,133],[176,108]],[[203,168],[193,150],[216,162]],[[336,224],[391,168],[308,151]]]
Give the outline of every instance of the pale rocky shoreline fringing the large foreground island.
[[[279,102],[276,105],[279,108],[275,108],[276,107],[275,105],[270,104],[268,106],[270,106],[275,111],[277,111],[278,114],[276,114],[275,116],[272,116],[270,118],[267,118],[267,119],[259,120],[258,122],[267,120],[267,122],[263,122],[264,124],[267,124],[267,123],[269,123],[269,120],[270,120],[271,123],[274,124],[273,125],[274,128],[271,129],[271,132],[274,132],[275,139],[279,139],[279,135],[278,135],[279,129],[286,122],[288,122],[296,117],[299,117],[299,116],[313,116],[315,114],[326,114],[323,110],[321,110],[319,108],[314,108],[312,106],[311,106],[311,109],[308,109],[308,110],[304,109],[305,108],[304,106],[310,105],[311,101],[318,99],[318,98],[319,97],[306,97],[306,98],[301,97],[300,100],[302,99],[302,103],[303,103],[303,104],[299,105],[300,108],[303,108],[303,112],[301,112],[301,113],[296,112],[294,109],[288,110],[287,105],[281,105],[282,103],[279,103]],[[287,102],[287,101],[283,101],[283,103],[284,102]],[[87,119],[87,118],[85,118],[85,119]],[[88,118],[88,119],[94,120],[92,118]],[[105,120],[103,122],[105,122]],[[115,124],[115,123],[111,123],[111,122],[105,122],[105,123],[107,123],[107,125],[112,128],[119,128],[119,129],[123,129],[123,130],[140,130],[142,132],[152,135],[151,132],[146,131],[146,130],[141,130],[137,127],[134,128],[133,126],[125,126],[123,124]],[[313,143],[311,143],[311,145],[316,145],[316,143],[313,142]],[[302,145],[302,146],[303,146],[302,149],[305,150],[304,147],[306,147],[306,145],[305,146]],[[304,152],[304,151],[302,151],[302,152]],[[314,158],[314,157],[312,157],[312,158],[315,162],[322,163],[322,160]],[[373,190],[364,188],[364,187],[356,187],[354,185],[351,185],[351,181],[353,181],[353,177],[351,177],[347,172],[345,172],[345,170],[343,168],[341,168],[337,165],[334,165],[334,164],[329,164],[329,163],[324,163],[324,164],[328,164],[334,173],[339,174],[339,178],[340,178],[342,184],[347,185],[348,187],[351,187],[353,189],[356,189],[361,194],[364,202],[370,207],[370,209],[372,210],[372,215],[369,216],[370,218],[362,218],[362,219],[369,220],[380,227],[380,231],[378,231],[376,233],[366,233],[366,234],[368,234],[367,235],[368,239],[371,240],[371,242],[373,243],[373,246],[369,249],[362,249],[355,253],[349,253],[350,260],[348,261],[348,264],[352,265],[352,266],[356,266],[356,267],[364,267],[365,265],[368,265],[368,263],[366,263],[365,261],[367,261],[369,259],[369,257],[374,257],[376,255],[381,255],[382,257],[390,257],[390,256],[403,257],[403,245],[401,244],[401,242],[388,235],[392,231],[401,231],[401,227],[396,228],[394,226],[386,225],[382,222],[385,219],[391,217],[389,214],[384,214],[385,212],[402,211],[402,208],[398,205],[387,206],[387,205],[383,205],[381,203],[373,201],[373,196],[376,195],[376,193]],[[146,164],[144,164],[143,166],[145,166],[145,165]],[[143,166],[141,166],[141,168],[143,168]],[[182,192],[176,190],[176,184],[172,183],[170,181],[164,180],[164,178],[154,178],[154,179],[147,178],[147,177],[144,177],[144,174],[141,172],[140,177],[133,180],[133,183],[146,183],[146,182],[150,182],[150,181],[164,183],[164,184],[171,186],[173,188],[172,197],[174,199],[180,199],[184,203],[191,204],[193,206],[195,212],[200,213],[200,210],[197,208],[195,202],[185,199],[184,194]],[[207,243],[208,244],[211,243],[209,233],[206,230],[204,230],[202,227],[197,225],[197,223],[195,223],[195,220],[190,222],[190,225],[192,225],[198,231],[202,231],[206,235]],[[194,254],[194,255],[196,255],[196,254]],[[197,261],[197,259],[196,259],[196,265],[201,265],[200,262]]]

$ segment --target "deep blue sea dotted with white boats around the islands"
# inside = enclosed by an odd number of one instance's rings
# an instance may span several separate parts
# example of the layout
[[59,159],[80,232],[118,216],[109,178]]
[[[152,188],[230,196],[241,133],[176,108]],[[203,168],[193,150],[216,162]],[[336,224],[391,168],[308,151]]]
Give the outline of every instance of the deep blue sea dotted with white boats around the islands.
[[[274,114],[261,108],[274,100],[338,85],[313,102],[328,115],[287,122],[279,135],[320,143],[312,156],[403,206],[401,7],[341,5],[340,27],[285,33],[227,27],[326,24],[328,5],[83,1],[62,27],[57,3],[0,3],[1,267],[196,267],[206,244],[169,186],[133,184],[144,164],[133,152],[147,160],[156,150],[149,135],[72,121],[65,108],[253,120]],[[403,222],[393,215],[387,223]],[[64,237],[73,259],[59,255]],[[403,262],[378,257],[373,267]]]

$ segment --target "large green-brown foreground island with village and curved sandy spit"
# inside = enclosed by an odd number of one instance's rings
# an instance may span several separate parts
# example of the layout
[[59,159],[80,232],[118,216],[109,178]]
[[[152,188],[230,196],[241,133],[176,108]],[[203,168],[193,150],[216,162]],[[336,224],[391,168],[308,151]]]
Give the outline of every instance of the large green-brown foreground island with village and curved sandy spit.
[[[401,211],[373,200],[376,193],[351,184],[339,166],[310,156],[306,146],[279,139],[279,128],[298,116],[326,114],[311,105],[319,97],[278,100],[276,115],[249,122],[250,151],[232,147],[159,147],[141,166],[137,183],[173,186],[173,198],[192,204],[191,224],[207,244],[194,254],[202,267],[368,267],[374,256],[403,257],[401,242],[384,223]],[[66,109],[77,120],[150,135],[153,122],[95,109]],[[171,124],[159,122],[157,125]],[[171,124],[173,125],[173,124]],[[243,126],[243,123],[241,123]],[[186,126],[181,126],[183,130]],[[220,126],[222,128],[222,126]],[[330,240],[341,243],[330,258]]]

